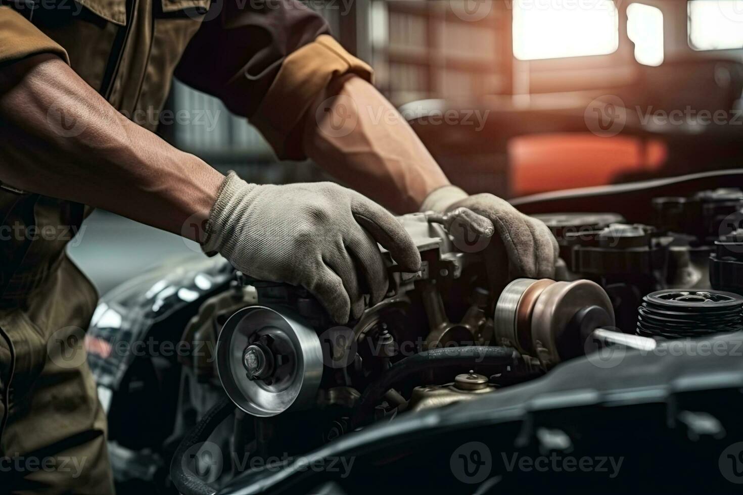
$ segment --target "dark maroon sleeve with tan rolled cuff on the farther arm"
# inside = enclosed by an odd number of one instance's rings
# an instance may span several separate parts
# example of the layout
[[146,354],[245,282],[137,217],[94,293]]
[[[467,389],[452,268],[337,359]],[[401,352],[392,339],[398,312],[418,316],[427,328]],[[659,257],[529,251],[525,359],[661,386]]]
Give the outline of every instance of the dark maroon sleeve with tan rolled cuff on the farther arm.
[[311,103],[336,76],[356,73],[371,81],[371,68],[299,1],[233,2],[212,4],[221,12],[201,25],[175,76],[250,119],[279,158],[302,160],[297,130]]

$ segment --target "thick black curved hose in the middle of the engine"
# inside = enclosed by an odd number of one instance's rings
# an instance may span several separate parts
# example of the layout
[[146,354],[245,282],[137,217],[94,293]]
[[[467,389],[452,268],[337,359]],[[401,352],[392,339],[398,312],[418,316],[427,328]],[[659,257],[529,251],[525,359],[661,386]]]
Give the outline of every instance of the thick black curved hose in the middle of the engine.
[[476,370],[480,367],[513,366],[518,364],[519,358],[519,353],[511,347],[493,346],[444,347],[411,355],[393,364],[366,387],[351,416],[350,429],[354,430],[366,421],[387,390],[410,376],[430,370],[431,367],[459,366],[462,370]]

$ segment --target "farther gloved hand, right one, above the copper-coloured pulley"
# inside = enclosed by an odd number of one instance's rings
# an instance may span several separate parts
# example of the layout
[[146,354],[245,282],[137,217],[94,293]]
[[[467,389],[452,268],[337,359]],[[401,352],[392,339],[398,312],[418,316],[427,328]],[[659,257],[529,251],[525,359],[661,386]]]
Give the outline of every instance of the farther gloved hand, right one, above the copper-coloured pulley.
[[468,195],[456,186],[432,191],[424,200],[421,212],[451,212],[464,207],[493,222],[501,238],[511,275],[528,278],[553,278],[559,248],[545,223],[513,208],[493,194]]

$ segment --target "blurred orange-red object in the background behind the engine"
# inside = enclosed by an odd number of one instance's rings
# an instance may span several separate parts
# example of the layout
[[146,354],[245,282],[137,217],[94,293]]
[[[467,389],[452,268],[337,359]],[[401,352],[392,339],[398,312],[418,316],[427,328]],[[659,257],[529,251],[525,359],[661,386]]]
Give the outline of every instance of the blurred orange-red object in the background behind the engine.
[[590,133],[533,134],[508,143],[510,196],[614,183],[657,171],[668,150],[659,140]]

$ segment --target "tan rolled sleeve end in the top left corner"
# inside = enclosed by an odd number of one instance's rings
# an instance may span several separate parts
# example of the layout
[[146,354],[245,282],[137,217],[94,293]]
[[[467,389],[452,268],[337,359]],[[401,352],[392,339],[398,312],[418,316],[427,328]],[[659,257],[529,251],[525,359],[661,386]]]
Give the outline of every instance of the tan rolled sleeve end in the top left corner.
[[67,51],[28,20],[7,6],[0,7],[0,64],[36,53],[54,53],[68,64]]

